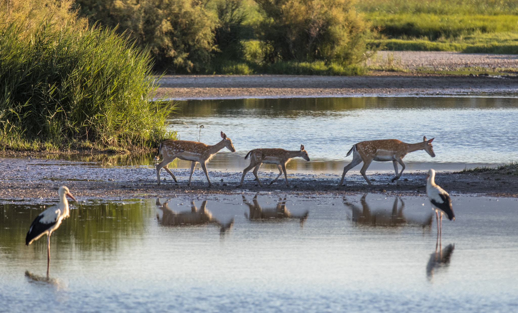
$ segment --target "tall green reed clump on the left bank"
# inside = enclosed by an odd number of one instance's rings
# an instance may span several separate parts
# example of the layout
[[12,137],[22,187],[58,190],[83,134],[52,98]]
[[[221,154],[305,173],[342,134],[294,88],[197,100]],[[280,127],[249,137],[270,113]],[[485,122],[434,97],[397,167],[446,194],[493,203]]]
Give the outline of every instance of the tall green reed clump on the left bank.
[[0,148],[152,149],[174,105],[149,101],[152,61],[114,30],[0,29]]

